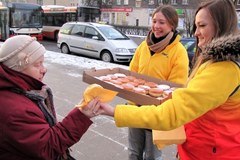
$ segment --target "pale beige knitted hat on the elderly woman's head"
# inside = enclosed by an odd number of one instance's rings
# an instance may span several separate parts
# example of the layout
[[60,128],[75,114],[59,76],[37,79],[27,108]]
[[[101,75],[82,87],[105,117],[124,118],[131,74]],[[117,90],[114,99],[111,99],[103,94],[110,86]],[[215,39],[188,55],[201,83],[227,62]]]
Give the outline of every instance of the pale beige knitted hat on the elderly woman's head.
[[17,35],[8,38],[0,48],[0,62],[7,67],[22,71],[46,52],[35,37]]

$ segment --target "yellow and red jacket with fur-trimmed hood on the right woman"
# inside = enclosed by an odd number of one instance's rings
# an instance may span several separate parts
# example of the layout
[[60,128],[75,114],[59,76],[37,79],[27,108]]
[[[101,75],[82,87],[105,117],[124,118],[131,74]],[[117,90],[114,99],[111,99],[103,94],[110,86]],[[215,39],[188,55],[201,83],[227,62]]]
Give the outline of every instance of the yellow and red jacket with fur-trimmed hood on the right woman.
[[155,130],[184,125],[181,159],[240,159],[240,65],[232,61],[239,61],[240,36],[213,40],[203,57],[205,63],[172,99],[158,106],[117,105],[116,125]]

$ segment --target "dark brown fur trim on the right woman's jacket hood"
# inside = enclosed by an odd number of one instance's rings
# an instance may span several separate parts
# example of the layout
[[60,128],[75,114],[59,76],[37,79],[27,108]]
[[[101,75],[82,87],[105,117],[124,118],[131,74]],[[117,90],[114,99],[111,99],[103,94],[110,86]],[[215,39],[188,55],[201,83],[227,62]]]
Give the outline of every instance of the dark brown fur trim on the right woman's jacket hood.
[[203,51],[205,60],[240,60],[240,34],[214,39]]

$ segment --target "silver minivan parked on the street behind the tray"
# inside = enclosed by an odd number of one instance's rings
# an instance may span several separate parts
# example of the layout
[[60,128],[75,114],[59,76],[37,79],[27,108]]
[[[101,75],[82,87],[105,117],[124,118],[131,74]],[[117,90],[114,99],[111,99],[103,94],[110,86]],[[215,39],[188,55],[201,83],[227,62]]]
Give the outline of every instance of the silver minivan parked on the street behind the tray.
[[57,46],[105,62],[130,62],[137,44],[113,26],[90,22],[67,22],[59,33]]

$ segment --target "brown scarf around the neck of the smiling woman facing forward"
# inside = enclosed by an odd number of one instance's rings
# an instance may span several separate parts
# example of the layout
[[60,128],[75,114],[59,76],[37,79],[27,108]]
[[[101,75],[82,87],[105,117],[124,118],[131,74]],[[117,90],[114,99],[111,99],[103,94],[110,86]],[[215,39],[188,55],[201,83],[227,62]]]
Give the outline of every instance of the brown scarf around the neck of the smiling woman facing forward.
[[154,53],[161,52],[162,50],[164,50],[167,47],[167,45],[171,41],[173,35],[174,35],[173,32],[169,32],[168,35],[164,39],[162,39],[160,42],[154,44],[154,42],[152,40],[154,35],[151,30],[146,37],[146,42],[151,51],[153,51]]

